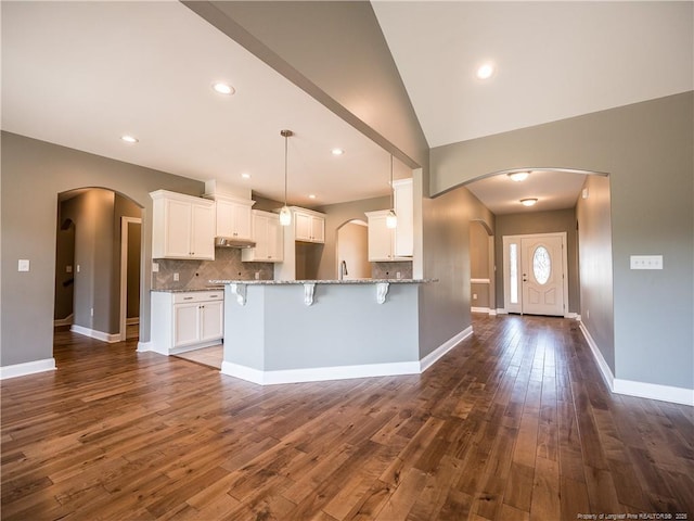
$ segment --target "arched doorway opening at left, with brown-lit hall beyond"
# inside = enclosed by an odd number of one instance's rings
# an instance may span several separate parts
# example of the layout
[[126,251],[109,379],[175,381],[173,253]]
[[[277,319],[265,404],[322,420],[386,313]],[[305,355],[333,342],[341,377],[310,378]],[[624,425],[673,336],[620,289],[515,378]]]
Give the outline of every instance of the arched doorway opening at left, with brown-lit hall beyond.
[[128,321],[137,332],[141,219],[142,208],[113,190],[80,188],[57,195],[56,323],[105,342],[126,340]]

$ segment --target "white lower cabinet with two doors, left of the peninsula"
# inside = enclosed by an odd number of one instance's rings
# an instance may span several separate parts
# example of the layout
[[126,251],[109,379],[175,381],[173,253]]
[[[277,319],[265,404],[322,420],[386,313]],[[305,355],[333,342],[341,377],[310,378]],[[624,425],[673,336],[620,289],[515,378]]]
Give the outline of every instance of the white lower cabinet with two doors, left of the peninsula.
[[219,344],[224,292],[152,292],[152,351],[163,355]]

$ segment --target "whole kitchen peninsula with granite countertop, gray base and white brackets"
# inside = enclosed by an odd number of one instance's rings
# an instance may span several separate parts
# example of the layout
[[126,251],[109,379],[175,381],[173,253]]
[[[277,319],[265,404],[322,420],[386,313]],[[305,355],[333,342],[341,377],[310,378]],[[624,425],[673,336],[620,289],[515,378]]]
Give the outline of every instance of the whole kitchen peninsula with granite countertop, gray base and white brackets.
[[224,374],[272,384],[423,370],[420,287],[434,280],[210,282],[224,285]]

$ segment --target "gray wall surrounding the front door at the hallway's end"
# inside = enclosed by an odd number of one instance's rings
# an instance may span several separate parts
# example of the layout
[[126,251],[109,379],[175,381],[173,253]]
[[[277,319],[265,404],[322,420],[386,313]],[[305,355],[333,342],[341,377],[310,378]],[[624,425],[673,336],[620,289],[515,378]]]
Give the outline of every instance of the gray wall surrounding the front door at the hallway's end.
[[503,308],[503,236],[528,233],[566,232],[566,257],[568,268],[568,310],[580,312],[578,284],[578,234],[576,232],[576,211],[556,209],[552,212],[524,212],[497,216],[494,237],[494,258],[497,259],[497,303]]

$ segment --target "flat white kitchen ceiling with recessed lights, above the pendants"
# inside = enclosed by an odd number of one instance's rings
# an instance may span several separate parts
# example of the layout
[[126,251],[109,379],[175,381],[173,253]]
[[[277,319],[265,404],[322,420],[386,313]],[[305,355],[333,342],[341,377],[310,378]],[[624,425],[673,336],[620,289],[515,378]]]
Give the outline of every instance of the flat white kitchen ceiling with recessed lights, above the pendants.
[[3,130],[282,201],[285,128],[290,203],[389,193],[389,154],[179,2],[2,2]]

